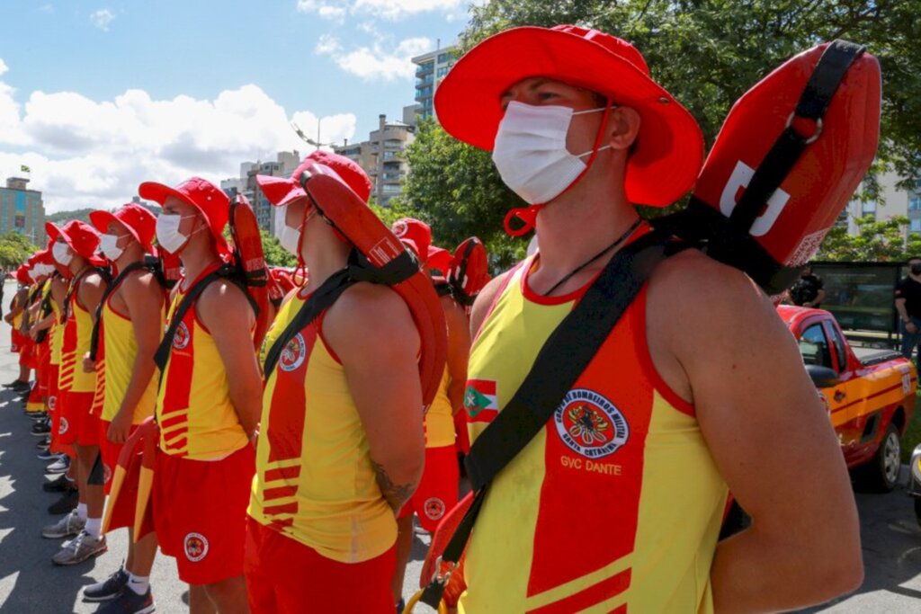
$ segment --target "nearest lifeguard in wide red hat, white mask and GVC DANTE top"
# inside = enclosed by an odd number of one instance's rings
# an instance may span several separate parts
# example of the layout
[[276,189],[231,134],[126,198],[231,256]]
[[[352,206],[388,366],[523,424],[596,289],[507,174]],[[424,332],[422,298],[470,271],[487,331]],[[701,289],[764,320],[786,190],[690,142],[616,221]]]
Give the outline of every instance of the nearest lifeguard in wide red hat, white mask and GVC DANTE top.
[[[435,104],[448,133],[492,152],[540,241],[472,310],[475,446],[606,264],[649,232],[634,205],[692,188],[703,140],[633,45],[576,26],[486,39]],[[729,490],[754,520],[717,545]],[[859,585],[860,556],[795,342],[744,274],[685,250],[489,484],[460,611],[795,609]]]

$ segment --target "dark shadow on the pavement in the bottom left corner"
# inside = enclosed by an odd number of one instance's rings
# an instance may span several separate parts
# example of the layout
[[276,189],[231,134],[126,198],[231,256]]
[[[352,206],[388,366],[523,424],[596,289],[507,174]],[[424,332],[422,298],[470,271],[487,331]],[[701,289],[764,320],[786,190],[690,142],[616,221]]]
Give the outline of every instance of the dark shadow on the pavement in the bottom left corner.
[[59,493],[41,490],[44,461],[36,458],[38,437],[23,415],[17,393],[0,391],[0,612],[71,612],[77,593],[94,580],[94,561],[72,567],[52,564],[63,539],[43,539],[48,505]]

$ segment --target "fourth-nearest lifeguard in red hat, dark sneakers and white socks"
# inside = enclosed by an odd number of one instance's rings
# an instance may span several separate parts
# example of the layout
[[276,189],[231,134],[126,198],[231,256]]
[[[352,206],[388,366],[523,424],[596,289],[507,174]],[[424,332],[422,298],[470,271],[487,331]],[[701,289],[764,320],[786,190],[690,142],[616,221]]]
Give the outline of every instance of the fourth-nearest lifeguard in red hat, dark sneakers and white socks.
[[[114,275],[99,309],[95,348],[97,396],[101,397],[99,447],[108,494],[125,439],[154,414],[158,376],[154,353],[163,336],[164,293],[145,262],[154,253],[154,214],[127,203],[114,212],[92,211],[89,219],[99,232],[99,250],[111,261]],[[153,608],[149,578],[156,554],[155,534],[136,542],[132,536],[123,567],[105,581],[85,587],[83,597],[110,601],[102,612]]]

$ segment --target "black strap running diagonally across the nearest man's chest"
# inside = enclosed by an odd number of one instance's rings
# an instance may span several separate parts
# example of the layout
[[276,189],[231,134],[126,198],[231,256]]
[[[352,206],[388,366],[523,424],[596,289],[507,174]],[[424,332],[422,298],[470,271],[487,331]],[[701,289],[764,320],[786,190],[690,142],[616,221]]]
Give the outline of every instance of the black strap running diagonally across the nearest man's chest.
[[[577,306],[543,343],[515,395],[473,442],[465,465],[475,494],[441,555],[443,562],[460,561],[490,482],[551,419],[653,269],[668,256],[667,243],[665,235],[652,232],[614,254]],[[433,579],[423,591],[422,601],[437,608],[444,587],[443,582]]]

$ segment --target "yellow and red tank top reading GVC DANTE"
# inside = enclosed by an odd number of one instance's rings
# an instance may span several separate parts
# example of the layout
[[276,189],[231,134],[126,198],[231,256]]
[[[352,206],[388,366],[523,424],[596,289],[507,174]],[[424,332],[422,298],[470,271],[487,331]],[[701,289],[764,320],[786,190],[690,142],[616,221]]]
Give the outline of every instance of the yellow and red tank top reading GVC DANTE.
[[[464,394],[471,441],[584,293],[530,292],[534,262],[509,274],[473,342]],[[713,611],[710,563],[728,491],[694,407],[652,364],[646,298],[644,288],[550,422],[490,486],[461,612]]]

